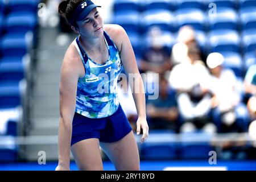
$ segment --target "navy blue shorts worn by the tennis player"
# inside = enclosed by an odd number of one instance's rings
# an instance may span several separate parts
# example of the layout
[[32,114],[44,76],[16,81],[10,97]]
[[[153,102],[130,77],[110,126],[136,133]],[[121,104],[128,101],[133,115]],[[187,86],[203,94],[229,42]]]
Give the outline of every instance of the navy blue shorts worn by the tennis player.
[[132,130],[120,104],[114,114],[105,118],[88,118],[75,113],[72,127],[71,146],[89,138],[98,138],[100,142],[116,142]]

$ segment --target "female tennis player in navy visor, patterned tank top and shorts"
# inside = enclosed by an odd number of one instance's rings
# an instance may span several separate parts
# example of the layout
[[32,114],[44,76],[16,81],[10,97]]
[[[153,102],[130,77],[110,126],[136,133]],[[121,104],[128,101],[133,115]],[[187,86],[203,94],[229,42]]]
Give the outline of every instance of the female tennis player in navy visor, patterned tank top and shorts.
[[79,36],[65,53],[60,76],[59,164],[69,170],[70,150],[80,170],[103,170],[100,146],[117,170],[139,170],[139,152],[131,126],[119,104],[118,75],[137,75],[133,93],[138,111],[137,134],[148,137],[144,86],[125,30],[105,24],[92,1],[59,5]]

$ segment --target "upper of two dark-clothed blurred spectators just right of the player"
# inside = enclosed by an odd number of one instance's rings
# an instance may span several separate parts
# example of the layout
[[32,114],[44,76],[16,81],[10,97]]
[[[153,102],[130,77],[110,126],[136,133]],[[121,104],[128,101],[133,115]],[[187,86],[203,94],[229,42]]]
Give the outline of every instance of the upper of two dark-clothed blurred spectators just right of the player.
[[141,64],[141,72],[152,71],[162,74],[171,69],[169,53],[164,48],[163,40],[161,39],[162,31],[158,27],[152,27],[150,36],[150,45],[144,50]]

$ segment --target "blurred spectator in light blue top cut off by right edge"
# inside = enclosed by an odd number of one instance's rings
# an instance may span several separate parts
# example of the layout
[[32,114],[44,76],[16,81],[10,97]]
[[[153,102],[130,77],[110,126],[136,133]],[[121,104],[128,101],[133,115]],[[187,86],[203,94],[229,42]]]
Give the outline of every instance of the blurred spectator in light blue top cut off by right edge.
[[250,121],[256,119],[256,64],[251,65],[245,75],[245,92],[249,97],[247,109],[250,114]]

